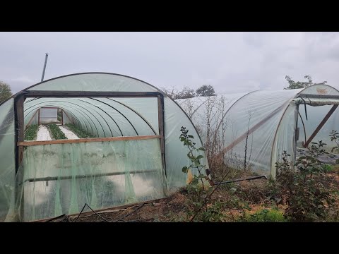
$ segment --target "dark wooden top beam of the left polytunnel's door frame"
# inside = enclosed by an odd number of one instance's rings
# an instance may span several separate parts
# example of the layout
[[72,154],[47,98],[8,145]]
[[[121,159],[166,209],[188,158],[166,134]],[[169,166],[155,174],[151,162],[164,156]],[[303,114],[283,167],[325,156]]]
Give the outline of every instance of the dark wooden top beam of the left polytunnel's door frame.
[[25,91],[25,97],[157,97],[160,92]]

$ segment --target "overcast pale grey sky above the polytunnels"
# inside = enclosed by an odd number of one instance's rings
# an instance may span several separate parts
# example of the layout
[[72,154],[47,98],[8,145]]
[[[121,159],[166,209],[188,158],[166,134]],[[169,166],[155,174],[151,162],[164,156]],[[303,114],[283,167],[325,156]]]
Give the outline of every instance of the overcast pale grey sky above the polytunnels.
[[339,88],[338,32],[0,32],[0,80],[13,92],[40,82],[45,52],[45,80],[103,71],[234,93],[311,75]]

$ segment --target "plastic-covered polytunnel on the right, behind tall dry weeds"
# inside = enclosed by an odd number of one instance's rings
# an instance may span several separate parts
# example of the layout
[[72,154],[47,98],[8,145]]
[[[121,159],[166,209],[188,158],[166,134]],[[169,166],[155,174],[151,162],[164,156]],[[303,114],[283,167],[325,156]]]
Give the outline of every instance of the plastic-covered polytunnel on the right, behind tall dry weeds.
[[[328,85],[295,90],[254,92],[178,99],[206,148],[210,167],[222,157],[227,165],[275,178],[275,162],[287,151],[291,162],[311,142],[338,130],[339,91]],[[211,169],[213,170],[213,168]]]

